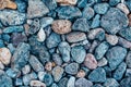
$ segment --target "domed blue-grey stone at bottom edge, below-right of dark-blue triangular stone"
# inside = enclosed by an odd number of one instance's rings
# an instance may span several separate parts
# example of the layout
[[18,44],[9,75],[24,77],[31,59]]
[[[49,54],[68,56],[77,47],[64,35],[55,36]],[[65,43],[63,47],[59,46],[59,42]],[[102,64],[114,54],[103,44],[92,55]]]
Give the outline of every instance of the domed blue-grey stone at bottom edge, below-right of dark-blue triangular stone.
[[115,78],[107,78],[104,83],[105,87],[120,87],[119,83]]

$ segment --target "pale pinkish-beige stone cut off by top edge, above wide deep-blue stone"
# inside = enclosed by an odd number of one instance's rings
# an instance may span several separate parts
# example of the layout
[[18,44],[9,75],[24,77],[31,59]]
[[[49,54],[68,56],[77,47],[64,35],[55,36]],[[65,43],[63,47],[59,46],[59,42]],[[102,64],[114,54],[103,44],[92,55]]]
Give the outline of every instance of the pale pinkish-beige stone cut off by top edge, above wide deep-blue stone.
[[78,0],[57,0],[60,5],[75,5]]

